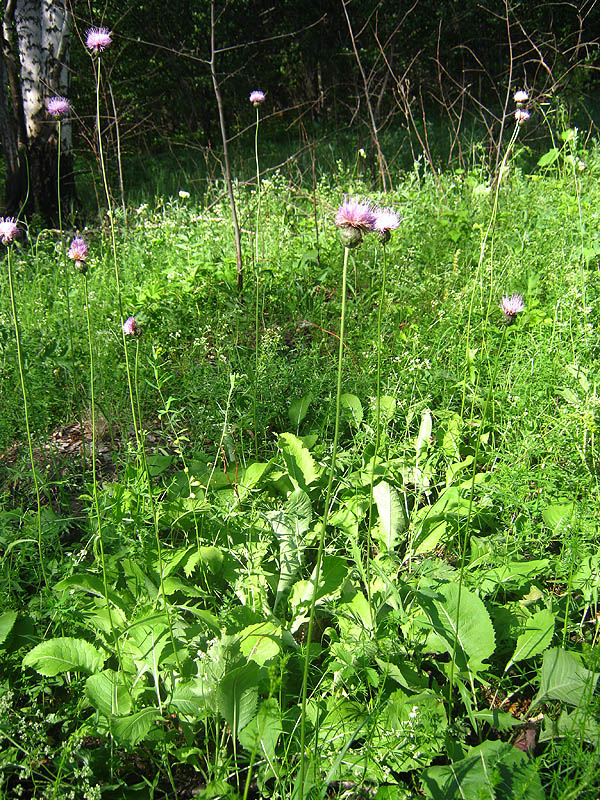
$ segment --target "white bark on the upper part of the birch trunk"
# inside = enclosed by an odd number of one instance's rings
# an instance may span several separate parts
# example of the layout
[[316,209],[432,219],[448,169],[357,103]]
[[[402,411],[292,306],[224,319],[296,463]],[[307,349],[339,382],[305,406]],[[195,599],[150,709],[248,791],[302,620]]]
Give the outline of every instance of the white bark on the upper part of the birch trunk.
[[[48,120],[46,100],[69,94],[67,58],[71,22],[66,0],[16,0],[15,27],[27,138],[29,142],[48,139],[55,126]],[[61,132],[62,150],[69,153],[69,119],[63,121]]]

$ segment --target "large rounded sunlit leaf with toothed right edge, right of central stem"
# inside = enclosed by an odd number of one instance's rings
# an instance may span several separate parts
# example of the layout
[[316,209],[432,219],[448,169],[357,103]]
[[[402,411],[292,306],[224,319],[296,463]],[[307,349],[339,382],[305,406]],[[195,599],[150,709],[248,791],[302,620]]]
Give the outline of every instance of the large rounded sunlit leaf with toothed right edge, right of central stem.
[[437,591],[439,600],[419,595],[419,603],[433,626],[427,646],[452,655],[456,642],[459,668],[473,672],[483,669],[482,662],[496,648],[494,626],[483,601],[464,586],[460,591],[456,583],[445,583]]

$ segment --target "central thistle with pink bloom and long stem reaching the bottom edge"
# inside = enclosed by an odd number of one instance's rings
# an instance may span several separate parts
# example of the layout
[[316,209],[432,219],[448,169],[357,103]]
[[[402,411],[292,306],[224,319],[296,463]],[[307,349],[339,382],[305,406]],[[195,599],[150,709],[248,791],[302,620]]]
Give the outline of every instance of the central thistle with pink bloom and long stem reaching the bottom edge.
[[308,694],[308,670],[310,666],[310,642],[312,639],[313,624],[315,617],[316,598],[321,578],[321,564],[323,562],[323,550],[325,546],[325,531],[329,518],[329,505],[331,503],[333,477],[335,474],[337,449],[340,432],[340,408],[342,396],[342,360],[344,354],[344,329],[346,323],[346,284],[348,275],[348,255],[350,250],[358,247],[363,240],[363,234],[374,230],[376,215],[371,205],[358,198],[345,198],[342,205],[338,208],[335,215],[335,224],[338,227],[338,235],[344,245],[344,261],[342,267],[342,308],[340,311],[340,336],[337,360],[337,384],[335,398],[335,427],[333,434],[333,445],[331,450],[331,466],[327,489],[325,492],[325,507],[323,509],[323,519],[321,521],[321,531],[319,534],[319,545],[317,549],[317,560],[314,568],[314,582],[312,587],[312,598],[308,616],[308,629],[306,634],[306,654],[304,656],[304,670],[302,674],[302,700],[300,714],[300,775],[298,797],[304,797],[305,781],[305,739],[306,739],[306,702]]

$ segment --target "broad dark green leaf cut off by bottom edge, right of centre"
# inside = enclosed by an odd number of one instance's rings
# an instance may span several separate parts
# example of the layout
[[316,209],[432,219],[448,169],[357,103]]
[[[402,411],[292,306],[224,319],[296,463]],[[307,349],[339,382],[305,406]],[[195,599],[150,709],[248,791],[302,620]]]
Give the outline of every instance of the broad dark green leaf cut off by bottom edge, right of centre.
[[544,800],[535,766],[508,742],[487,741],[448,766],[422,774],[429,800]]

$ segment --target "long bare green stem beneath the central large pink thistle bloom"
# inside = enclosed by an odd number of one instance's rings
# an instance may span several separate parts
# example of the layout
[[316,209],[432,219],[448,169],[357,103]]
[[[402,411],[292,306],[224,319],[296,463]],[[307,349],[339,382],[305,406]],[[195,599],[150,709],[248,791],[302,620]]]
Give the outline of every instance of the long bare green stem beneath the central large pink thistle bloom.
[[304,671],[302,674],[302,710],[300,715],[300,777],[299,777],[299,792],[298,797],[304,797],[304,780],[305,780],[305,763],[304,763],[304,746],[306,739],[306,701],[308,694],[308,670],[310,667],[310,642],[312,639],[313,625],[315,619],[315,606],[317,602],[317,592],[319,590],[319,580],[321,577],[321,564],[323,562],[323,550],[325,547],[325,531],[327,529],[327,520],[329,518],[329,504],[331,502],[331,494],[333,488],[333,477],[335,474],[335,464],[338,449],[338,440],[340,433],[340,407],[342,396],[342,360],[344,355],[344,328],[346,324],[346,282],[348,273],[348,254],[349,249],[344,247],[344,266],[342,271],[342,310],[340,313],[340,344],[338,349],[338,365],[337,365],[337,391],[335,398],[335,429],[333,434],[333,448],[331,452],[331,467],[329,471],[329,478],[327,481],[327,490],[325,492],[325,508],[323,510],[323,520],[321,523],[321,534],[319,536],[319,547],[317,550],[317,561],[314,569],[314,582],[312,599],[310,602],[310,612],[308,616],[308,630],[306,633],[306,655],[304,657]]

